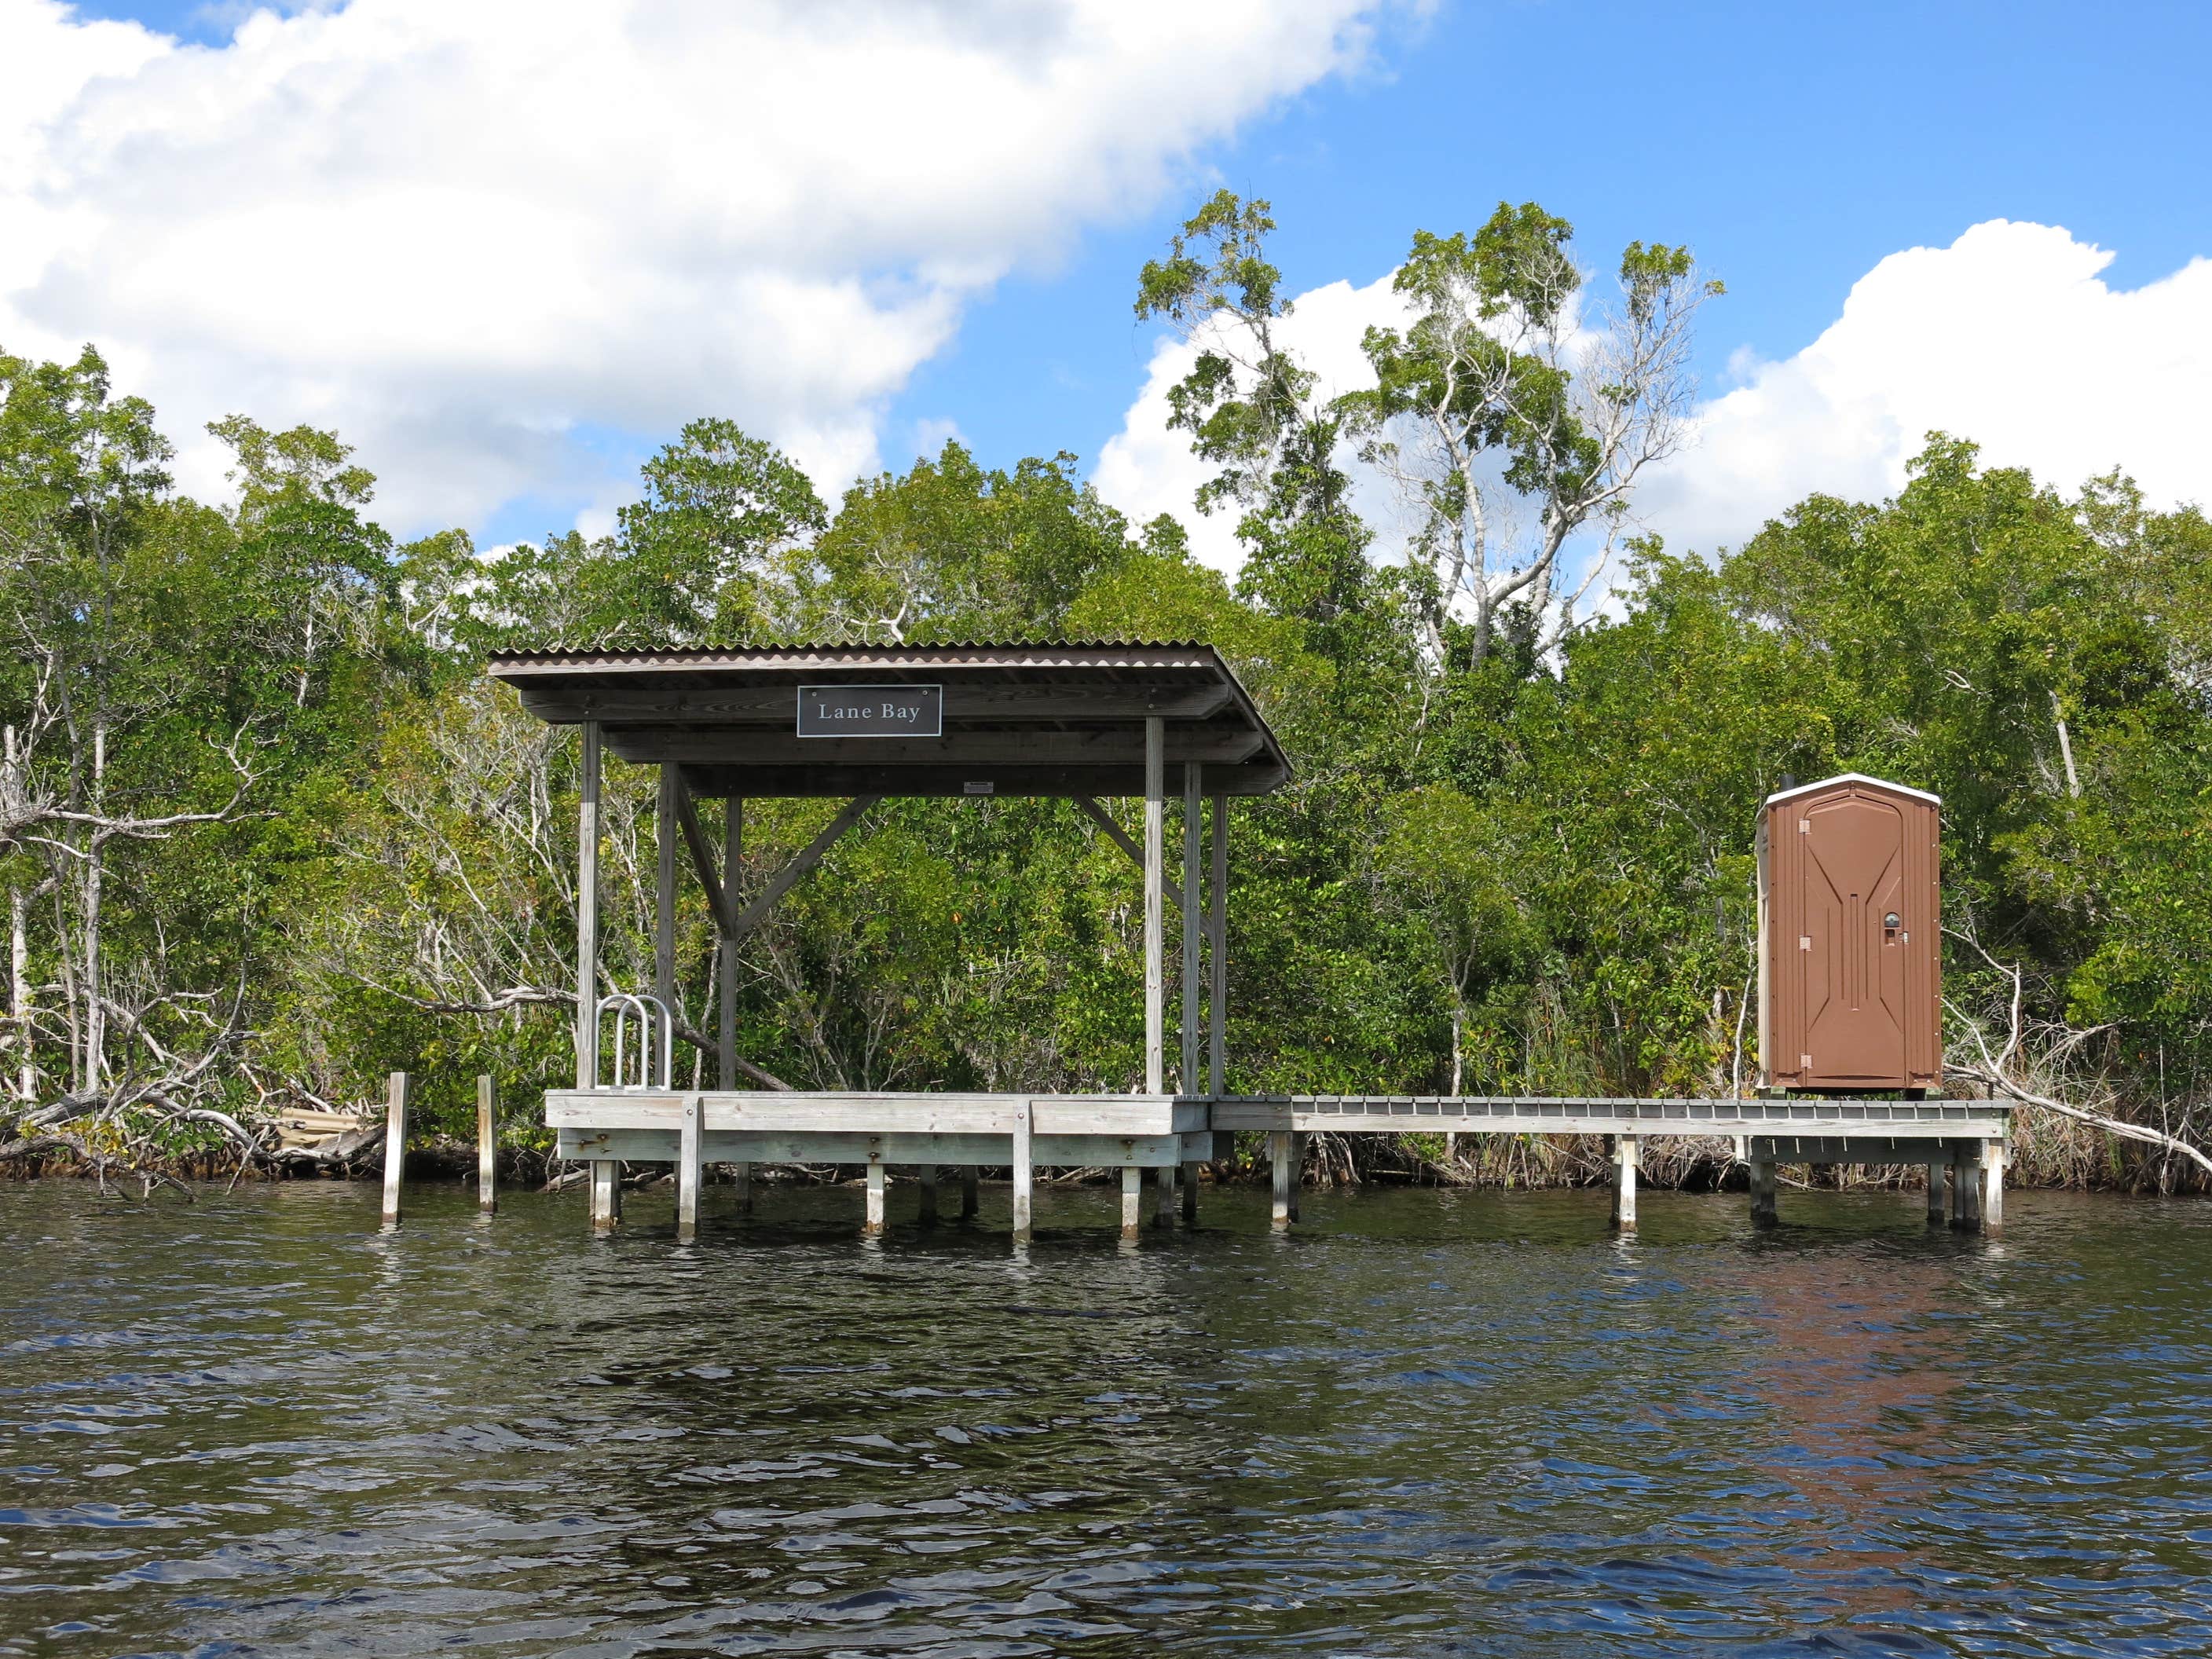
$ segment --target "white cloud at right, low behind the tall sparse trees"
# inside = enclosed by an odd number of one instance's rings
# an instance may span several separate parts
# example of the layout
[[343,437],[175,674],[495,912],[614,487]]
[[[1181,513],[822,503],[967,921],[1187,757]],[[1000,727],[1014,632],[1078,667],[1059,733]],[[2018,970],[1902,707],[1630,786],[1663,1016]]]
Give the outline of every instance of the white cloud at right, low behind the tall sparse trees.
[[[2135,290],[2104,283],[2110,261],[2066,230],[2002,219],[1949,248],[1891,254],[1796,356],[1759,363],[1739,352],[1741,385],[1699,407],[1692,445],[1644,480],[1637,518],[1677,549],[1734,546],[1814,491],[1893,493],[1936,429],[1975,440],[1989,465],[2028,467],[2062,489],[2121,467],[2157,504],[2212,502],[2212,261]],[[1292,343],[1325,378],[1352,385],[1360,330],[1391,321],[1389,283],[1332,283],[1301,296],[1298,312],[1305,332]],[[1708,312],[1712,323],[1723,316]],[[1190,356],[1177,343],[1155,352],[1099,460],[1099,491],[1133,515],[1194,520],[1206,469],[1188,438],[1166,429],[1166,389]],[[1371,520],[1394,504],[1378,480],[1363,491]],[[1194,540],[1208,562],[1234,568],[1221,515]],[[1376,555],[1400,549],[1402,529],[1385,526]]]

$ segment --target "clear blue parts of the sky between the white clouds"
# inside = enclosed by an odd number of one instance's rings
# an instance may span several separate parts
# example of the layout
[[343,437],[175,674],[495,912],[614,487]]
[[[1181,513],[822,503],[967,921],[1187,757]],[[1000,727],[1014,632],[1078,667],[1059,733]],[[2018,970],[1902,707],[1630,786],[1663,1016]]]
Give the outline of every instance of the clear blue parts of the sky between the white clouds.
[[[230,40],[228,20],[184,4],[102,0],[77,15],[208,51]],[[1155,345],[1130,316],[1135,270],[1214,181],[1274,201],[1292,290],[1374,281],[1416,228],[1469,228],[1500,199],[1573,219],[1599,268],[1632,237],[1688,241],[1730,288],[1701,334],[1712,392],[1743,349],[1763,363],[1803,352],[1885,257],[1947,248],[1989,219],[2112,250],[2108,288],[2154,283],[2212,254],[2208,46],[2208,9],[2152,4],[1444,0],[1425,20],[1385,13],[1365,69],[1259,100],[1225,135],[1166,155],[1164,190],[1099,201],[1068,234],[1018,248],[1015,274],[962,294],[947,343],[860,403],[894,467],[947,422],[987,462],[1062,447],[1095,460]],[[2031,330],[2017,349],[2046,345]],[[332,418],[343,429],[343,400]],[[675,418],[580,407],[573,451],[626,471]],[[478,507],[473,526],[535,538],[595,500],[606,478],[571,465]]]

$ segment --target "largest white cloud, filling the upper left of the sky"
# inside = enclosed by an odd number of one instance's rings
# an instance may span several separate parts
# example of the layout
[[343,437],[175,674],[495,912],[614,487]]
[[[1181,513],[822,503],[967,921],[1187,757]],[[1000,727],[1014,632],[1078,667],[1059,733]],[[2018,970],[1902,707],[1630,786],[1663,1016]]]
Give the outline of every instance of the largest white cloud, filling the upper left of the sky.
[[[221,46],[0,0],[0,345],[190,438],[336,425],[398,526],[730,414],[827,491],[962,303],[1358,64],[1378,0],[352,0]],[[27,91],[29,88],[29,91]]]

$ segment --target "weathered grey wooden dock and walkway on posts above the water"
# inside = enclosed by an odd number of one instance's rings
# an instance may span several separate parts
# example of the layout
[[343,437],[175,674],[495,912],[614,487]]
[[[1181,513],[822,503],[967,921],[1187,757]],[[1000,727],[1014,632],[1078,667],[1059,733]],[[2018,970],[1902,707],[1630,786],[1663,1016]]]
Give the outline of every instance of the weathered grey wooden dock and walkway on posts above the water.
[[[697,1225],[712,1164],[845,1164],[867,1170],[867,1232],[885,1225],[891,1166],[1013,1175],[1015,1232],[1029,1230],[1040,1166],[1119,1168],[1121,1225],[1141,1219],[1141,1172],[1159,1210],[1197,1212],[1197,1166],[1217,1135],[1267,1135],[1274,1219],[1296,1219],[1305,1135],[1604,1135],[1613,1141],[1615,1225],[1637,1225],[1641,1144],[1723,1137],[1750,1166],[1752,1214],[1774,1219],[1778,1164],[1922,1164],[1931,1219],[1997,1230],[2011,1106],[1989,1099],[1606,1099],[1526,1095],[902,1095],[571,1088],[546,1095],[564,1159],[593,1164],[593,1223],[611,1228],[619,1164],[675,1164],[679,1232]],[[933,1188],[933,1179],[929,1181]]]

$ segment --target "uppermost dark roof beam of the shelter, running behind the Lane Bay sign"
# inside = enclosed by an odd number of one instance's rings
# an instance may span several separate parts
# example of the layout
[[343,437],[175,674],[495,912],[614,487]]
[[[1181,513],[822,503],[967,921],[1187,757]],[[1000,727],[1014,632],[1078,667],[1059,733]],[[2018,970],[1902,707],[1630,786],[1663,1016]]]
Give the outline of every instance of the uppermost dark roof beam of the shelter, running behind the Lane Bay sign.
[[[838,679],[841,675],[823,675]],[[843,675],[849,679],[852,675]],[[779,726],[794,730],[799,692],[794,681],[779,686],[580,686],[511,679],[522,706],[542,721],[571,726],[577,721],[639,723],[684,721],[695,726]],[[918,684],[936,684],[929,672],[914,675]],[[1212,719],[1234,701],[1234,692],[1208,677],[1192,686],[1181,681],[1053,686],[1053,684],[958,684],[945,681],[947,721],[1110,721],[1157,714],[1170,721]]]

